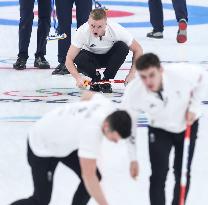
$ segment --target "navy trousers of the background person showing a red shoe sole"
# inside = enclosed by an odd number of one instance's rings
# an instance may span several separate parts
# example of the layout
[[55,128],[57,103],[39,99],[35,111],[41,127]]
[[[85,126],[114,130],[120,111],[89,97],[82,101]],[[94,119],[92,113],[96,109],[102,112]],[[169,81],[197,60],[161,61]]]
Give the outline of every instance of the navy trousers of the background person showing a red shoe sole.
[[[150,22],[154,31],[163,31],[163,8],[161,0],[149,0]],[[172,0],[177,21],[186,19],[188,21],[188,11],[186,0]]]

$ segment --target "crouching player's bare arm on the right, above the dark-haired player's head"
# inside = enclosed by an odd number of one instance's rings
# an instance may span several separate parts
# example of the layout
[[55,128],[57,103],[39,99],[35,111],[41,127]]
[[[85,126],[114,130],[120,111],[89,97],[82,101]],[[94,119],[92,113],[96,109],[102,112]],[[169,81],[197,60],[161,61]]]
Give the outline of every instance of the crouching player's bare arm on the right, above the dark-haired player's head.
[[136,65],[135,65],[136,60],[143,54],[143,49],[141,45],[135,39],[133,39],[129,49],[130,51],[133,52],[133,57],[132,57],[131,69],[125,80],[126,83],[129,83],[134,78],[136,73]]

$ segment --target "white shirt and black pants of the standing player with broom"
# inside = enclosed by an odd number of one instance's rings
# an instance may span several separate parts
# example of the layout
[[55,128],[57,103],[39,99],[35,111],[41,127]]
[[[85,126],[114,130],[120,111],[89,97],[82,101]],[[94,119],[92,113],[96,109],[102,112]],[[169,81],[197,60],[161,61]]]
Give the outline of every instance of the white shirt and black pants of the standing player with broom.
[[147,90],[139,76],[128,85],[123,106],[131,113],[143,111],[149,118],[149,154],[152,168],[150,177],[151,205],[165,205],[165,181],[168,173],[169,154],[175,148],[175,190],[173,205],[179,204],[179,187],[186,129],[185,115],[189,108],[197,116],[191,128],[191,144],[188,159],[188,184],[191,162],[198,131],[198,118],[203,95],[203,76],[200,71],[187,65],[173,65],[164,69],[163,89]]

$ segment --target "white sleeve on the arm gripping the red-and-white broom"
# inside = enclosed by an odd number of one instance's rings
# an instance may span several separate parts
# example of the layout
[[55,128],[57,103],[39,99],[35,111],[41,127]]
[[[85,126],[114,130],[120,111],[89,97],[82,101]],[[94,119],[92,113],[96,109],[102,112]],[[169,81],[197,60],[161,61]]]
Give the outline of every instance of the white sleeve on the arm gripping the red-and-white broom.
[[195,114],[201,111],[201,102],[203,100],[204,94],[208,91],[207,85],[205,83],[205,73],[196,73],[196,79],[194,82],[193,90],[191,93],[189,111]]

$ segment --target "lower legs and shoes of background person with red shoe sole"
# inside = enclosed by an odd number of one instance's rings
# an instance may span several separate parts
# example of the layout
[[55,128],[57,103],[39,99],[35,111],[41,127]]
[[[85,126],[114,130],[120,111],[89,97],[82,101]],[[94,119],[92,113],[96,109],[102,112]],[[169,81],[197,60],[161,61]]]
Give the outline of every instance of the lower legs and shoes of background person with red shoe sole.
[[[188,11],[186,0],[172,0],[175,10],[176,19],[178,21],[178,33],[176,40],[178,43],[187,41],[187,22]],[[153,26],[153,31],[147,34],[149,38],[163,38],[163,8],[161,0],[149,0],[150,22]]]

